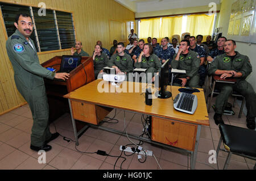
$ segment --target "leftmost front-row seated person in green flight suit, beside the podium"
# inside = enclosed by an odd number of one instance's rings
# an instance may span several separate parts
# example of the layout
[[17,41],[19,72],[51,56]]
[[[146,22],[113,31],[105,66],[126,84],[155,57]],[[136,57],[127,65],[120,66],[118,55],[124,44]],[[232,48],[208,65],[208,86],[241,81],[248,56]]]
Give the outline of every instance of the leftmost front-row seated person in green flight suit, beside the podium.
[[102,52],[100,45],[95,45],[93,53],[94,76],[97,79],[99,73],[103,73],[103,68],[108,66],[109,58]]

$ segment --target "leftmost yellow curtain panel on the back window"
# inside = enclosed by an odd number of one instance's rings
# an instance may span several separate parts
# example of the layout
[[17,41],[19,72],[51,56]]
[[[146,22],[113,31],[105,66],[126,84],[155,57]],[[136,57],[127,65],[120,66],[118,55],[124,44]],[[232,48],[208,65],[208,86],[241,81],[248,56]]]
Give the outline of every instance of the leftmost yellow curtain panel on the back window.
[[139,25],[139,39],[146,40],[146,43],[148,36],[159,39],[160,18],[142,19]]

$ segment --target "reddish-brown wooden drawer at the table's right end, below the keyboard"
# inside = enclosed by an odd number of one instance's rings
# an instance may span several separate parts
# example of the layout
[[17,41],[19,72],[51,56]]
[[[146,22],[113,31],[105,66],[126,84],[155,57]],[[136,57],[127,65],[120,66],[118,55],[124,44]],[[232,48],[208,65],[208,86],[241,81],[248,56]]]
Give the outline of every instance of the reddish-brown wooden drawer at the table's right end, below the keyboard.
[[152,117],[152,140],[178,148],[195,149],[197,125]]

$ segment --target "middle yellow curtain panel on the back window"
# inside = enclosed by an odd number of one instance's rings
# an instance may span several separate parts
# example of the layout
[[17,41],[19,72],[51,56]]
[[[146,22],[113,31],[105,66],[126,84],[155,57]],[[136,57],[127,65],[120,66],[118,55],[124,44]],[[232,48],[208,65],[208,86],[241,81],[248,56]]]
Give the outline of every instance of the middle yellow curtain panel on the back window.
[[169,37],[171,42],[172,35],[181,35],[182,31],[182,16],[166,17],[162,19],[160,28],[160,39]]

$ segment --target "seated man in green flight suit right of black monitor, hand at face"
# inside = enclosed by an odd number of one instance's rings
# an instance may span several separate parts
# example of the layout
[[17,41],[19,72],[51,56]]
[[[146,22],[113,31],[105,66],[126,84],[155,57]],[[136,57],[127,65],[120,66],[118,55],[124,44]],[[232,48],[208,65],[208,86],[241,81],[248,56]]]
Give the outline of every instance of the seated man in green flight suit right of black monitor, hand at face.
[[174,79],[174,86],[188,86],[197,87],[199,86],[199,66],[200,57],[196,52],[189,50],[190,43],[188,40],[180,41],[179,52],[174,55],[171,61],[171,68],[186,70],[186,74],[177,74]]

